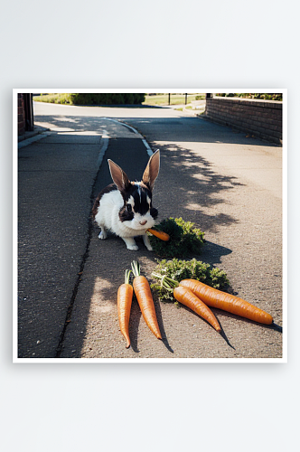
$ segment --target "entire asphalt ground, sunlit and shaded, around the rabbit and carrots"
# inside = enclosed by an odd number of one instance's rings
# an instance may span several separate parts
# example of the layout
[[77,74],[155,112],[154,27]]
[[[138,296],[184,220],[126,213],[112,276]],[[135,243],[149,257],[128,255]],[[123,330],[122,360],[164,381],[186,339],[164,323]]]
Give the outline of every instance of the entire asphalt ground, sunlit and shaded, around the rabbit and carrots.
[[[161,150],[154,191],[159,219],[195,222],[207,240],[201,259],[224,269],[239,297],[282,325],[280,146],[172,108],[35,104],[34,115],[51,133],[19,153],[20,358],[282,356],[280,331],[214,309],[225,341],[198,315],[156,298],[163,341],[148,330],[134,302],[127,350],[118,328],[117,287],[133,259],[151,279],[156,257],[143,243],[130,251],[115,237],[98,240],[89,220],[93,199],[111,183],[108,158],[129,178],[143,174],[145,144],[125,122]],[[98,167],[104,141],[108,148]]]

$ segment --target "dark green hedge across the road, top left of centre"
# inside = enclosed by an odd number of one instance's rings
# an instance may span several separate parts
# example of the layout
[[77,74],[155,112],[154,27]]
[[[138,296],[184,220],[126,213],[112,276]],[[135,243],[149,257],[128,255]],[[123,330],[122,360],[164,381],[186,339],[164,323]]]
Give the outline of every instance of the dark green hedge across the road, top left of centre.
[[145,94],[141,93],[74,93],[70,94],[70,103],[74,105],[122,105],[141,104]]

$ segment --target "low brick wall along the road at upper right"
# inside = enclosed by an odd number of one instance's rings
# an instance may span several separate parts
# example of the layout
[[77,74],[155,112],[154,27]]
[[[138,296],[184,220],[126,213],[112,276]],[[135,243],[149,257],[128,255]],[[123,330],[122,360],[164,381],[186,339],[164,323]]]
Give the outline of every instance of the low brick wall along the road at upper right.
[[206,118],[255,137],[282,144],[282,102],[260,99],[207,98]]

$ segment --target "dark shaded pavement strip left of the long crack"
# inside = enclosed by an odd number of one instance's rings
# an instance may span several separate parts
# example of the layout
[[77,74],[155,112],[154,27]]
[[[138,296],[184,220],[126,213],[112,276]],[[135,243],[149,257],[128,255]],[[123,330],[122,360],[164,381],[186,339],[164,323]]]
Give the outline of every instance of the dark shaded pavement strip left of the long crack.
[[100,135],[19,150],[19,357],[54,357],[89,228]]

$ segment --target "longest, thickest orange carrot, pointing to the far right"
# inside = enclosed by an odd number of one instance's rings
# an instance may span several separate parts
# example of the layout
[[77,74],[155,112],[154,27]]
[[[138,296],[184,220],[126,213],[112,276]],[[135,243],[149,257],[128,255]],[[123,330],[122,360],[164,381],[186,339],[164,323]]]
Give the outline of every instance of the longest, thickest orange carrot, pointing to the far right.
[[270,325],[273,322],[272,315],[267,314],[267,312],[259,309],[259,307],[251,305],[242,298],[207,286],[196,279],[183,279],[179,284],[182,287],[187,287],[192,290],[192,293],[202,299],[203,303],[207,306],[218,307],[223,311],[246,317],[260,324]]

